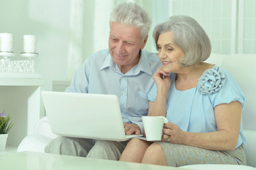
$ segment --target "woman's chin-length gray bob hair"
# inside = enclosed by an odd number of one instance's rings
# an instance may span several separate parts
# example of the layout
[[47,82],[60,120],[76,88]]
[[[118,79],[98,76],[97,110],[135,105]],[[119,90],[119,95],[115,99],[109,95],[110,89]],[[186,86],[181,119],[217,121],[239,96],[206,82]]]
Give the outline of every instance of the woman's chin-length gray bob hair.
[[[199,23],[189,16],[172,16],[169,21],[160,23],[153,30],[153,38],[157,41],[161,33],[172,32],[172,40],[185,53],[179,63],[188,67],[203,62],[211,55],[211,42]],[[157,47],[158,50],[158,47]]]

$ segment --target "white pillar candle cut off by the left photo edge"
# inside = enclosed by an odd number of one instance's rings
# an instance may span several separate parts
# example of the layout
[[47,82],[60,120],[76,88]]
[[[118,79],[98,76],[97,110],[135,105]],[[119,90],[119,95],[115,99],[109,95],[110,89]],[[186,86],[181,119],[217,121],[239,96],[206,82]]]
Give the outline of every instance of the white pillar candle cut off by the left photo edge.
[[0,33],[0,51],[12,52],[13,50],[13,35],[10,33]]

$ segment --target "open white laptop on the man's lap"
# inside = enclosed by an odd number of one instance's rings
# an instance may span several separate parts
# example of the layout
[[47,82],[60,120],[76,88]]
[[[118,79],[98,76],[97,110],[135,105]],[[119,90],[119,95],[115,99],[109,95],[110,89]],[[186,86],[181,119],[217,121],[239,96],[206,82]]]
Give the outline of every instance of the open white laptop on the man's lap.
[[66,137],[126,141],[142,135],[125,135],[118,97],[42,91],[53,133]]

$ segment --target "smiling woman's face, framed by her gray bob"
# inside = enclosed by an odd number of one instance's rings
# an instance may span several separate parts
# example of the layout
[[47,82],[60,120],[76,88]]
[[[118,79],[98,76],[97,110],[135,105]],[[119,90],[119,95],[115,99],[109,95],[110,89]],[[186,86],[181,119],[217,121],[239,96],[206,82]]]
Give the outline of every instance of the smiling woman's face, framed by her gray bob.
[[162,33],[157,40],[158,57],[162,63],[164,72],[178,73],[182,66],[179,64],[179,58],[185,57],[182,49],[172,40],[172,32]]

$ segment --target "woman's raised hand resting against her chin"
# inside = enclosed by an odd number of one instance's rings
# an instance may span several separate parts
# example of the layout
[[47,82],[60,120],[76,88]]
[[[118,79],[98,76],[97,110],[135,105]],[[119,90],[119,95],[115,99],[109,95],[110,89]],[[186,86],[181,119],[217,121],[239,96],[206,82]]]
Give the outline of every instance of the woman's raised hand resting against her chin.
[[171,86],[171,80],[169,79],[169,73],[162,71],[162,68],[158,68],[157,72],[153,75],[153,79],[155,84],[157,84],[157,88],[165,88],[169,91],[169,87]]

